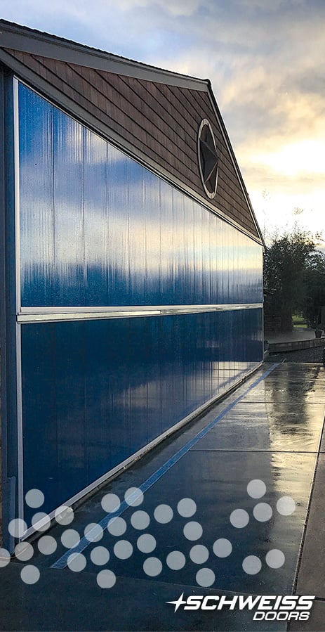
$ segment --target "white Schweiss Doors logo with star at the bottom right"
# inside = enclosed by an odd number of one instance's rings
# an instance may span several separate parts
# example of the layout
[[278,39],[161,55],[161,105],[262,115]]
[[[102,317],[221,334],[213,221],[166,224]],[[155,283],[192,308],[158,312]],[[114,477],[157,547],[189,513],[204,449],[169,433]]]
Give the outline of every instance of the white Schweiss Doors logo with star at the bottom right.
[[298,597],[297,595],[191,595],[178,600],[167,601],[183,610],[256,610],[253,621],[307,621],[312,609],[314,596]]

